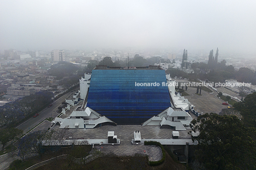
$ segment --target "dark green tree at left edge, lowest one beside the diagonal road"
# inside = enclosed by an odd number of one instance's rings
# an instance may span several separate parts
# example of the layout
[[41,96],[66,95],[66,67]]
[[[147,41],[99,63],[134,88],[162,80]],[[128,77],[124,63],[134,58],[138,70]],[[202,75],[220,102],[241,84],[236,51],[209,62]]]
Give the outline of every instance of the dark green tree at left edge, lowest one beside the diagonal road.
[[0,142],[3,145],[2,150],[9,141],[19,138],[22,132],[22,130],[16,128],[0,129]]

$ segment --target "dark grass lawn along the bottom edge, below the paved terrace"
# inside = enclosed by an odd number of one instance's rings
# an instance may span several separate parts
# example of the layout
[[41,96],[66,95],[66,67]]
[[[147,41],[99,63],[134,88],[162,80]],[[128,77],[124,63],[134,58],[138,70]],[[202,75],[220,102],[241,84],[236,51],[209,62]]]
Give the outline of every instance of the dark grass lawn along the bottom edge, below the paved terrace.
[[186,170],[181,163],[177,163],[166,154],[166,160],[163,164],[155,167],[149,166],[146,156],[128,156],[128,157],[98,157],[96,160],[88,162],[85,165],[76,165],[68,163],[62,159],[52,162],[35,170]]

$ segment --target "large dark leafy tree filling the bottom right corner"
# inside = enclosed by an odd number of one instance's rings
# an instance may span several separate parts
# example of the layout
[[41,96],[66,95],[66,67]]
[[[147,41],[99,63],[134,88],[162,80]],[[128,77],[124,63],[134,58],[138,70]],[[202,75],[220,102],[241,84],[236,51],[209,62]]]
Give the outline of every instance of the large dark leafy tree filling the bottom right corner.
[[206,113],[192,120],[190,127],[200,132],[198,137],[192,137],[198,142],[195,158],[207,170],[256,169],[256,143],[250,137],[252,131],[236,116]]

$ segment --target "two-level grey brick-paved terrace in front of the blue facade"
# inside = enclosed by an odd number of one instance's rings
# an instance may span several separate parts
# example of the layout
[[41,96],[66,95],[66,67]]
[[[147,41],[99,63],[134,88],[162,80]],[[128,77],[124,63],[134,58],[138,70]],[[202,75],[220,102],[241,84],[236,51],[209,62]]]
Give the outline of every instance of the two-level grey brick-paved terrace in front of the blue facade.
[[[54,128],[58,129],[59,126]],[[135,130],[140,131],[141,139],[172,139],[171,132],[173,129],[160,129],[160,126],[141,125],[107,125],[96,129],[68,129],[66,130],[66,138],[107,139],[107,132],[114,131],[117,139],[120,139],[120,145],[95,145],[95,149],[110,156],[132,156],[139,154],[148,155],[149,161],[161,160],[162,151],[160,147],[141,144],[133,145],[131,143],[131,140],[134,139],[133,132]],[[180,131],[180,139],[190,139],[188,131]]]

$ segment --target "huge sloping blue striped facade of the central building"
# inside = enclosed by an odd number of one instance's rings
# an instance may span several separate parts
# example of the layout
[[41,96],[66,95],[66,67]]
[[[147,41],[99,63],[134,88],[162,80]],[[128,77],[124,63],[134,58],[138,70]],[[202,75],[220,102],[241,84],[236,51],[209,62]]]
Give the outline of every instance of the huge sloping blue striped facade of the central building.
[[87,106],[120,124],[142,123],[171,106],[162,82],[164,70],[93,70]]

